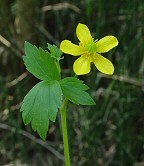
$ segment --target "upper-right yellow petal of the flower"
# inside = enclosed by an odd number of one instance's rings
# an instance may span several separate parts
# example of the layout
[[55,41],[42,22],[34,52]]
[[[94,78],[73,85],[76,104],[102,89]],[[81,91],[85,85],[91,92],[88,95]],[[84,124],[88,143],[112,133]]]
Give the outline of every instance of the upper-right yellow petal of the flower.
[[96,42],[98,53],[108,52],[117,45],[118,45],[118,40],[114,36],[106,36]]

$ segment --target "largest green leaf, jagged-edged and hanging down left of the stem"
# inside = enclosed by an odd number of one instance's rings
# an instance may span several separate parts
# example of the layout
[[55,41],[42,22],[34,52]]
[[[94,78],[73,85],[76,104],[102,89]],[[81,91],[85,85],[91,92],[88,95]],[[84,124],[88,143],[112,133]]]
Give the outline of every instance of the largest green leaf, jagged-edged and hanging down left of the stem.
[[62,105],[62,91],[58,81],[42,81],[25,96],[21,107],[25,125],[31,122],[42,139],[46,138],[49,120],[55,121]]

